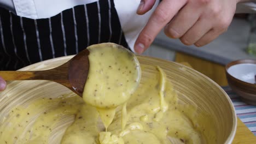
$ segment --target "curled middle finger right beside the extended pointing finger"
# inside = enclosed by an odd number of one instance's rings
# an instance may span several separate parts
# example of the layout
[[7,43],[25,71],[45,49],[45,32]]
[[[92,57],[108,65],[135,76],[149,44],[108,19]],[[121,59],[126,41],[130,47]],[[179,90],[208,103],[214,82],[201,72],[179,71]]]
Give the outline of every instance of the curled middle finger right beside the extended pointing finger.
[[201,11],[193,3],[186,4],[165,27],[164,31],[167,37],[181,38],[199,19]]

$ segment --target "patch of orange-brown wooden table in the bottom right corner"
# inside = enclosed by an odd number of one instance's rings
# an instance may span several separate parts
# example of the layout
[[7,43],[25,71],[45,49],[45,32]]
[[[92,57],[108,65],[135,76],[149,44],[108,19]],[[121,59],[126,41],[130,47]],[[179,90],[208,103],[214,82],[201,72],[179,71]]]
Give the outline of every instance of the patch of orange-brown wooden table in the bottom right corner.
[[253,144],[256,143],[256,136],[246,127],[246,125],[237,117],[237,129],[234,141],[232,143]]

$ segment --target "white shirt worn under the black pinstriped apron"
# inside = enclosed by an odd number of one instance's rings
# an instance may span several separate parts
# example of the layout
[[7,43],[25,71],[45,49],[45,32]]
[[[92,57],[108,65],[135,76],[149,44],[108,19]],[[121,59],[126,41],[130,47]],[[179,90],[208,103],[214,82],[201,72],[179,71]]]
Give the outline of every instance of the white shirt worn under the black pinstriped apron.
[[[88,4],[98,0],[0,0],[0,6],[5,7],[18,16],[31,19],[42,19],[59,14],[61,11],[73,8],[76,5]],[[103,0],[108,1],[108,0]],[[156,8],[156,1],[152,10],[144,15],[137,15],[136,10],[140,0],[114,0],[119,21],[123,29],[125,39],[133,52],[135,40],[142,30],[150,15]]]

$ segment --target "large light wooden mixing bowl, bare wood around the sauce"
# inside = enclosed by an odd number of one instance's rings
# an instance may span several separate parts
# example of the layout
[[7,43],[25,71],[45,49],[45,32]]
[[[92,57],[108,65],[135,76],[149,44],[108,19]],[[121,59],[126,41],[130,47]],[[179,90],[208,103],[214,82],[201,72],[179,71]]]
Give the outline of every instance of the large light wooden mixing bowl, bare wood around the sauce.
[[[50,59],[22,68],[21,70],[45,70],[67,62],[73,56]],[[184,65],[162,59],[138,56],[143,69],[142,77],[150,76],[159,65],[166,73],[168,81],[177,92],[178,103],[193,106],[195,112],[185,113],[193,121],[195,129],[212,140],[210,143],[231,143],[236,132],[236,114],[228,95],[211,79]],[[26,105],[28,101],[42,97],[56,98],[71,91],[50,81],[13,81],[0,93],[0,124],[4,116],[16,105]],[[67,122],[68,123],[68,122]],[[71,123],[71,122],[69,122]],[[200,129],[204,127],[204,129]],[[64,133],[59,130],[59,133]],[[58,134],[61,136],[61,134]],[[55,137],[57,141],[57,137]],[[55,142],[56,143],[56,142]]]

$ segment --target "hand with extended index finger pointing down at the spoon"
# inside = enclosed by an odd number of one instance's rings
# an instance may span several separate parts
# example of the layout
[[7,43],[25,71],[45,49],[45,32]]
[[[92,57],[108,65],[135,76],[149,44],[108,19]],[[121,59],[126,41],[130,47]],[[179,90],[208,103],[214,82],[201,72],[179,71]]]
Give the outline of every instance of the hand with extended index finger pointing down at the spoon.
[[[137,14],[152,9],[156,0],[141,0]],[[203,46],[228,29],[240,0],[162,0],[135,42],[142,53],[165,27],[165,34],[185,45]]]

